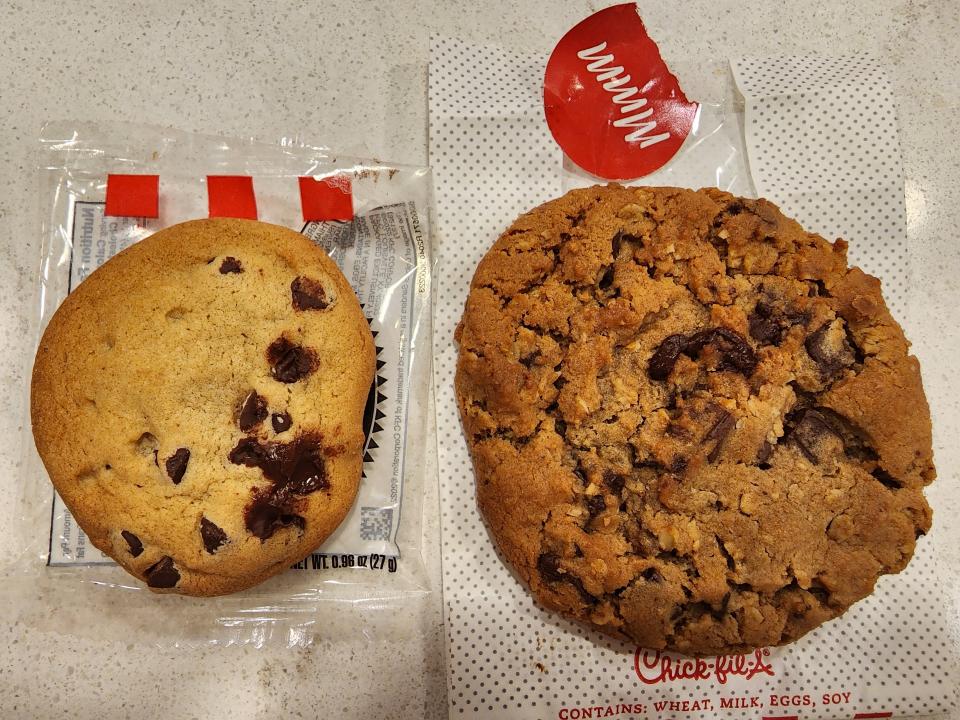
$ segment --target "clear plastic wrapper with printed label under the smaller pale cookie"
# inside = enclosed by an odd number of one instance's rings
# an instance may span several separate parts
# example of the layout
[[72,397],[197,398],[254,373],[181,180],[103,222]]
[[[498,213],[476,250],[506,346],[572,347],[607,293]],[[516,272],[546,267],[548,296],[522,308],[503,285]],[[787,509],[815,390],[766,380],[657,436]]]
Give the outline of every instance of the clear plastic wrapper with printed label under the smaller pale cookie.
[[[0,574],[13,591],[52,595],[70,612],[24,603],[24,621],[84,634],[86,618],[99,614],[115,620],[108,630],[115,639],[136,629],[161,645],[295,645],[317,634],[376,633],[390,611],[416,607],[430,592],[421,555],[422,490],[425,458],[435,447],[427,433],[435,269],[429,170],[342,157],[288,139],[267,144],[119,123],[47,125],[39,170],[34,346],[60,302],[99,265],[157,230],[207,217],[209,176],[244,176],[252,178],[259,220],[302,232],[343,270],[374,333],[377,373],[364,413],[363,479],[350,513],[290,570],[212,599],[151,593],[86,541],[36,453],[25,402],[21,522]],[[158,176],[158,216],[108,215],[111,174]],[[305,221],[301,178],[345,181],[353,219]]]

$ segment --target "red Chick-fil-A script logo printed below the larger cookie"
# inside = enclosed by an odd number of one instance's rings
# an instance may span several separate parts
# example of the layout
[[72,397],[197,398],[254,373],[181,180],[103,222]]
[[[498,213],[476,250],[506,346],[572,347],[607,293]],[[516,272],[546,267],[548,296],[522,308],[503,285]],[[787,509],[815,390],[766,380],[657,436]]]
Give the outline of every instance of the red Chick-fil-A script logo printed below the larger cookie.
[[731,677],[750,680],[757,675],[773,675],[767,662],[770,651],[758,648],[752,655],[720,655],[715,658],[673,657],[659,650],[637,648],[633,667],[645,685],[656,685],[674,680],[714,679],[725,685]]

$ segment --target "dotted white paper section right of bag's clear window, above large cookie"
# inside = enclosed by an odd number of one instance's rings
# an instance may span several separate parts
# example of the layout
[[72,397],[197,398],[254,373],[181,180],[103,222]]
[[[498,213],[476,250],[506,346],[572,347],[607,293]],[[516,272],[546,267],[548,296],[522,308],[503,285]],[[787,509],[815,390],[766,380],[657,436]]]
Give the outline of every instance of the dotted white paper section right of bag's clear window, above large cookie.
[[909,255],[900,139],[890,81],[865,55],[742,58],[757,195],[805,228],[850,244],[850,262],[883,282],[902,318]]

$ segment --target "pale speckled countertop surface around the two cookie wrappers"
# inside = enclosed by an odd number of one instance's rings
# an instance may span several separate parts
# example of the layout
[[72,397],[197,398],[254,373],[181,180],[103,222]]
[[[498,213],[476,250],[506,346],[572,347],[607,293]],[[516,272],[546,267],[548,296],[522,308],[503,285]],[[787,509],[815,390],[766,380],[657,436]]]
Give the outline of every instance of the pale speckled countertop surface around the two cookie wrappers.
[[[0,478],[15,496],[33,278],[38,262],[35,141],[48,119],[123,119],[185,130],[282,136],[341,152],[427,159],[431,32],[548,52],[607,3],[325,2],[0,3]],[[549,7],[554,6],[554,7]],[[955,0],[642,3],[665,57],[869,51],[898,97],[909,239],[920,267],[907,320],[935,417],[940,479],[934,534],[960,596],[957,280],[960,252],[960,20]],[[915,315],[915,313],[911,313]],[[162,650],[31,629],[0,597],[0,716],[214,718],[445,717],[435,483],[425,498],[425,559],[437,590],[379,639],[320,639],[309,649]],[[0,507],[0,528],[16,508]],[[2,537],[3,530],[0,530]],[[68,610],[64,609],[64,612]],[[957,613],[956,608],[954,614]],[[960,624],[960,617],[958,624]],[[109,618],[103,618],[106,627]],[[378,636],[379,637],[379,636]],[[389,638],[389,639],[388,639]],[[960,716],[958,716],[960,717]]]

